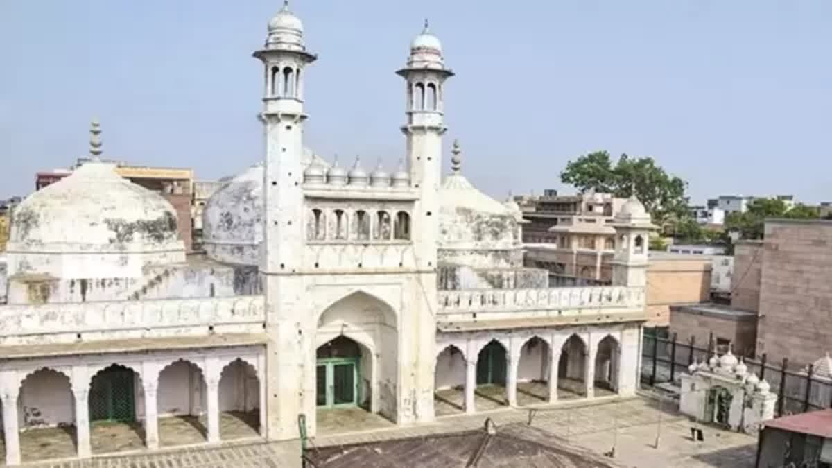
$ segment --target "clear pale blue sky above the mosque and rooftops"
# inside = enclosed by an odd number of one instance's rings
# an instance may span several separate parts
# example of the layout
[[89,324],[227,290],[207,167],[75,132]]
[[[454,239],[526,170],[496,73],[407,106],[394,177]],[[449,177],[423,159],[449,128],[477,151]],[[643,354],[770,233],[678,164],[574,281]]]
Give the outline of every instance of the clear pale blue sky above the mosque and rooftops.
[[[562,188],[567,160],[655,157],[694,202],[723,193],[832,200],[827,0],[295,0],[319,61],[306,144],[393,166],[404,65],[423,17],[457,76],[445,165],[493,196]],[[260,62],[279,0],[0,0],[0,197],[87,152],[194,167],[261,157]],[[566,189],[569,191],[570,189]]]

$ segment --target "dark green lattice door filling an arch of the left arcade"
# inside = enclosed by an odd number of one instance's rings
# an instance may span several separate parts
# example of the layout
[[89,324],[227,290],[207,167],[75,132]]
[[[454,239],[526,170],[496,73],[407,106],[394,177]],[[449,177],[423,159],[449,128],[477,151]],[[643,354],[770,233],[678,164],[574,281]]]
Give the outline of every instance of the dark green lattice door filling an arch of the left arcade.
[[136,395],[133,371],[110,366],[92,379],[90,421],[134,421]]

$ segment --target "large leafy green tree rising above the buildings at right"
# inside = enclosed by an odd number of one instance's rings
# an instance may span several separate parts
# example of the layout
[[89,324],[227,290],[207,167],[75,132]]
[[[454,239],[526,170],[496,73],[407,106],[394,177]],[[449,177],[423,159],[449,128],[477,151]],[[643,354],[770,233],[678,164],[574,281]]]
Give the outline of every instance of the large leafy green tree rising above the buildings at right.
[[651,157],[631,158],[622,154],[615,166],[608,152],[591,152],[567,162],[561,182],[581,193],[590,190],[615,197],[636,197],[650,212],[653,222],[663,224],[688,217],[687,182],[667,174]]

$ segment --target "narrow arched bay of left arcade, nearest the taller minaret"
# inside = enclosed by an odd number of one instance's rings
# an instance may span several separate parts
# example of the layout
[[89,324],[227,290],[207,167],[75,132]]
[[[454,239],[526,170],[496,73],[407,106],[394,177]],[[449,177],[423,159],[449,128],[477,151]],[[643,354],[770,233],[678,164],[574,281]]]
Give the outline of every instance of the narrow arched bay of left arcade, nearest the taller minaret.
[[260,434],[260,379],[241,359],[220,374],[220,438],[223,441]]

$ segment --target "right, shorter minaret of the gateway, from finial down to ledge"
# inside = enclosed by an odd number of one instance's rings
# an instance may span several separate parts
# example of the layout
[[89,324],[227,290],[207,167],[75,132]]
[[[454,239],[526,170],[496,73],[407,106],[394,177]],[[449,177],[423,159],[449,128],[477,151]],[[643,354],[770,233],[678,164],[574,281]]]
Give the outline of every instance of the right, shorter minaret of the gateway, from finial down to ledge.
[[442,178],[443,89],[453,72],[445,67],[442,44],[424,29],[410,45],[407,67],[397,72],[407,81],[408,165],[412,187],[419,193],[414,213],[413,241],[419,269],[435,269],[438,242],[438,190]]

